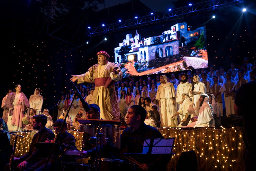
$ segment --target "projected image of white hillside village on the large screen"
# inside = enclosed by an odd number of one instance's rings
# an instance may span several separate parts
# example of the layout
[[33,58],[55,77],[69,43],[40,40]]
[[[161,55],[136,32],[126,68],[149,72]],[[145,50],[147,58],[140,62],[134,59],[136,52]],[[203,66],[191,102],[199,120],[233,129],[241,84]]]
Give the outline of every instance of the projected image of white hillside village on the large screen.
[[115,48],[115,63],[123,76],[143,76],[208,67],[206,28],[177,23],[161,35],[124,35]]

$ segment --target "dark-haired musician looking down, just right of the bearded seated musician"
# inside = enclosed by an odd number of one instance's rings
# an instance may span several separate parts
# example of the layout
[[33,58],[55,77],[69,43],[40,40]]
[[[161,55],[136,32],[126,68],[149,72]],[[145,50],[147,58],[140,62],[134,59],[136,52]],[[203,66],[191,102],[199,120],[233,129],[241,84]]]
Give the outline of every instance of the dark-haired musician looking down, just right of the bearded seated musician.
[[[62,144],[62,145],[67,145],[69,146],[68,148],[74,148],[76,149],[76,139],[75,137],[68,133],[67,130],[67,122],[64,123],[63,128],[60,130],[60,127],[63,123],[63,119],[58,119],[57,121],[54,122],[53,127],[55,130],[55,133],[58,134],[58,132],[60,131],[60,135],[59,135],[59,140],[58,143]],[[54,138],[54,140],[50,140],[49,138],[47,138],[47,140],[45,141],[46,143],[55,143],[56,139]],[[56,147],[57,148],[57,147]],[[49,149],[48,149],[49,150]],[[62,149],[64,150],[64,149]],[[58,156],[58,155],[57,155]],[[48,158],[44,158],[43,160],[39,161],[38,163],[34,164],[33,166],[29,167],[28,169],[26,169],[26,171],[28,170],[42,170],[45,167],[45,164],[47,163],[47,159]],[[67,161],[67,157],[65,158],[65,161]],[[69,158],[69,161],[71,161],[72,159]],[[63,161],[63,160],[62,160]],[[56,151],[54,151],[50,157],[50,160],[47,164],[46,170],[52,170],[55,167],[55,163],[56,163]]]

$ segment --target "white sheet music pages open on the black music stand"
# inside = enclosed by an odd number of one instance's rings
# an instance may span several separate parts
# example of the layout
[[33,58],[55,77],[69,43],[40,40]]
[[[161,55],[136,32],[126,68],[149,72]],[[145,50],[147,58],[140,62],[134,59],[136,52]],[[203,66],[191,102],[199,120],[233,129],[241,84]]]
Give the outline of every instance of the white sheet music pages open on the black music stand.
[[[170,154],[172,153],[172,149],[173,149],[173,143],[174,143],[174,139],[155,139],[154,140],[154,146],[152,148],[152,154]],[[150,139],[145,140],[144,144],[143,144],[143,150],[142,153],[143,154],[147,154],[148,150],[149,150],[149,145],[150,144]],[[164,146],[164,147],[158,147],[158,146]]]

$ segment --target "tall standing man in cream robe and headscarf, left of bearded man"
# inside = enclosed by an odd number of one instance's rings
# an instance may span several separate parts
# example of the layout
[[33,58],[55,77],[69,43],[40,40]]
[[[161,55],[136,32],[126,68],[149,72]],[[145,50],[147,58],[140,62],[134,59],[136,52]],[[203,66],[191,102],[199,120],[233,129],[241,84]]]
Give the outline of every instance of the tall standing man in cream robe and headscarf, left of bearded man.
[[[156,100],[159,101],[161,106],[161,124],[163,126],[171,125],[171,117],[176,113],[175,111],[175,89],[172,83],[167,82],[165,75],[160,76],[161,84],[158,86],[156,93]],[[178,125],[177,117],[175,118],[175,124]]]

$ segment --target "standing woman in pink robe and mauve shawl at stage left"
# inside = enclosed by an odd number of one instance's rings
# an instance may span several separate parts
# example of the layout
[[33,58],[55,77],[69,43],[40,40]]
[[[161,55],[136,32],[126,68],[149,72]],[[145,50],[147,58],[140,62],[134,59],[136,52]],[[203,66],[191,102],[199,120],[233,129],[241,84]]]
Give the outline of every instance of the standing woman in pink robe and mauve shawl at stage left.
[[5,102],[6,109],[9,110],[8,128],[11,131],[23,130],[25,124],[22,117],[29,113],[29,102],[26,95],[21,92],[21,85],[17,84],[12,93],[9,93]]

